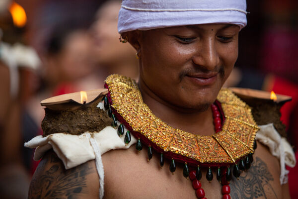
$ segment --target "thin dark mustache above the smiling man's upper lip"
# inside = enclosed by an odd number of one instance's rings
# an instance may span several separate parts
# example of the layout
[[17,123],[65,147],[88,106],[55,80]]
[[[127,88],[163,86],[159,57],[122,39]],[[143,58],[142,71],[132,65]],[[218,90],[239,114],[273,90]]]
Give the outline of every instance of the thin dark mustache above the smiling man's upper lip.
[[180,82],[182,81],[182,79],[187,76],[187,74],[197,74],[197,73],[219,73],[221,78],[224,78],[224,66],[219,66],[216,67],[214,70],[208,70],[205,67],[200,67],[200,66],[195,66],[195,67],[190,67],[190,68],[186,68],[183,71],[181,71],[179,73],[179,80]]

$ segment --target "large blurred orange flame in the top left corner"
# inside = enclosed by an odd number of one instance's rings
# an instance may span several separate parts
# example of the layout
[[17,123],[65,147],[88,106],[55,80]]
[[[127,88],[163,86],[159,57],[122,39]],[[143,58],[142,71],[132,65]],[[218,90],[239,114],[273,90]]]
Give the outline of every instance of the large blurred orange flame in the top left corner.
[[12,16],[13,24],[17,27],[23,27],[27,22],[27,16],[24,8],[18,3],[12,1],[9,12]]

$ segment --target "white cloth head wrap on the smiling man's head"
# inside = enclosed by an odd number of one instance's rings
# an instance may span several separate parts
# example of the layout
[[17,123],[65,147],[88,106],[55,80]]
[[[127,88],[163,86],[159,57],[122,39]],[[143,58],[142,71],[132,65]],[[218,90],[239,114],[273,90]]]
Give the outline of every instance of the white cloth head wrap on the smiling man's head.
[[206,23],[246,25],[245,0],[123,0],[119,33]]

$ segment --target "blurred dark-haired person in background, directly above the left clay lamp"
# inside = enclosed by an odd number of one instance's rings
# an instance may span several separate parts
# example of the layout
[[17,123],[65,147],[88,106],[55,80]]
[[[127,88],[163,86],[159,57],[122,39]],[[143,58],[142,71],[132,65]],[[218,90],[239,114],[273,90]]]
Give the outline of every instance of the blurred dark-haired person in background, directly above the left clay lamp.
[[54,28],[46,44],[42,74],[52,95],[98,87],[99,72],[90,56],[91,45],[91,38],[82,27],[59,24]]

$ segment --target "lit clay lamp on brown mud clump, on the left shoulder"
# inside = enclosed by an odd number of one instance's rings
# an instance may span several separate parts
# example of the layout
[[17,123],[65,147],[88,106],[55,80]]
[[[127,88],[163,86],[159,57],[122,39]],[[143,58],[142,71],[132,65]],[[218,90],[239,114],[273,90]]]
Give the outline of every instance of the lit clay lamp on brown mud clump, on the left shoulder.
[[40,103],[45,106],[42,121],[43,136],[53,133],[81,134],[98,132],[111,125],[111,118],[97,104],[108,93],[107,89],[81,91],[55,96]]

